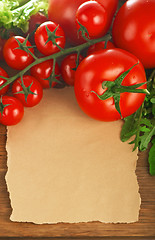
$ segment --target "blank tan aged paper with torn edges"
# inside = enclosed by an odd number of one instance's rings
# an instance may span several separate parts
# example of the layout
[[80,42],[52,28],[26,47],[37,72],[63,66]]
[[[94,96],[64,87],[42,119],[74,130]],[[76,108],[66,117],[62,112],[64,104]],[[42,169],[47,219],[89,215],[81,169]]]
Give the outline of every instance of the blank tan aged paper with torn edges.
[[45,90],[42,102],[8,127],[10,219],[137,221],[137,153],[120,141],[121,125],[87,117],[73,88]]

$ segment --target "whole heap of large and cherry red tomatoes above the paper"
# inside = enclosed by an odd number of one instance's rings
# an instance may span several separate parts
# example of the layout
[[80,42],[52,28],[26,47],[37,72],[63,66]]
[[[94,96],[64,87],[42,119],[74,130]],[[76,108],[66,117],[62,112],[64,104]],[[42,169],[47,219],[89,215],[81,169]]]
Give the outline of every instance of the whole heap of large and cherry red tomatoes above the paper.
[[[115,84],[111,85],[114,95],[109,93],[102,99],[98,96],[107,91],[105,83],[118,83],[132,66],[121,86],[131,89],[146,82],[145,68],[155,67],[155,1],[128,0],[118,12],[117,7],[118,0],[51,0],[48,19],[41,14],[30,19],[30,40],[12,36],[5,41],[3,57],[7,65],[21,73],[23,69],[30,71],[0,90],[0,123],[17,124],[24,107],[38,104],[43,88],[54,87],[61,78],[74,86],[79,106],[95,119],[113,121],[134,113],[143,103],[144,93],[122,92],[120,84]],[[39,27],[32,37],[36,24]],[[84,52],[78,51],[79,44],[104,36],[111,26],[111,41],[90,44]],[[63,57],[60,66],[55,58],[42,61],[45,56],[63,52],[66,45],[77,45],[77,52]],[[36,52],[41,55],[36,56]],[[0,68],[0,76],[2,87],[8,74]],[[9,87],[12,96],[6,95]],[[146,84],[138,87],[145,88]],[[121,114],[116,107],[118,100]]]

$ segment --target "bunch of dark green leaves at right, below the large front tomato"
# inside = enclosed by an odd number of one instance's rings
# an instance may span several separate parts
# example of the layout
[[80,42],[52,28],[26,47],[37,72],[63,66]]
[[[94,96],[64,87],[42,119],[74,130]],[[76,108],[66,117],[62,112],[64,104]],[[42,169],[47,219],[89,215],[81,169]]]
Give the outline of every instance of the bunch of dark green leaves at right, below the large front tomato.
[[[148,76],[150,71],[146,71]],[[149,95],[146,95],[143,105],[134,114],[124,119],[121,140],[125,142],[133,137],[130,144],[134,144],[133,151],[145,151],[151,144],[149,151],[149,171],[155,175],[155,69],[148,77]]]

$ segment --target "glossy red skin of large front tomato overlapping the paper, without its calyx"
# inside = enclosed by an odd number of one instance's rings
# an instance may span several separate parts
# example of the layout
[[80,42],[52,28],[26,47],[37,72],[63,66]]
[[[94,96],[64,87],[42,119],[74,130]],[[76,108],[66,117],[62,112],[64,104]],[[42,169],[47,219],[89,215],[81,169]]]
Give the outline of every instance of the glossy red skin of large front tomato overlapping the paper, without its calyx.
[[[124,71],[138,63],[138,59],[122,50],[109,49],[96,52],[86,57],[79,65],[75,74],[75,96],[81,109],[90,117],[102,121],[121,119],[115,108],[113,97],[100,100],[95,91],[102,95],[106,89],[102,88],[103,81],[115,81]],[[136,65],[122,82],[124,86],[146,82],[145,71],[141,63]],[[143,85],[141,88],[146,88]],[[143,103],[145,94],[121,93],[120,110],[122,117],[134,113]]]

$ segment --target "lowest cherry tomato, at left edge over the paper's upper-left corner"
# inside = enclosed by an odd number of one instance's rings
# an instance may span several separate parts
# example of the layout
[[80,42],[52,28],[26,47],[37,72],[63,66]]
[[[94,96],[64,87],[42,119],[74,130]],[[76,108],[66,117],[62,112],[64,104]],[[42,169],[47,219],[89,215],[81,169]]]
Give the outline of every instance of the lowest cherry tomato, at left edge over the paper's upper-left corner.
[[22,103],[14,97],[2,96],[0,109],[0,123],[6,126],[16,125],[24,115]]

